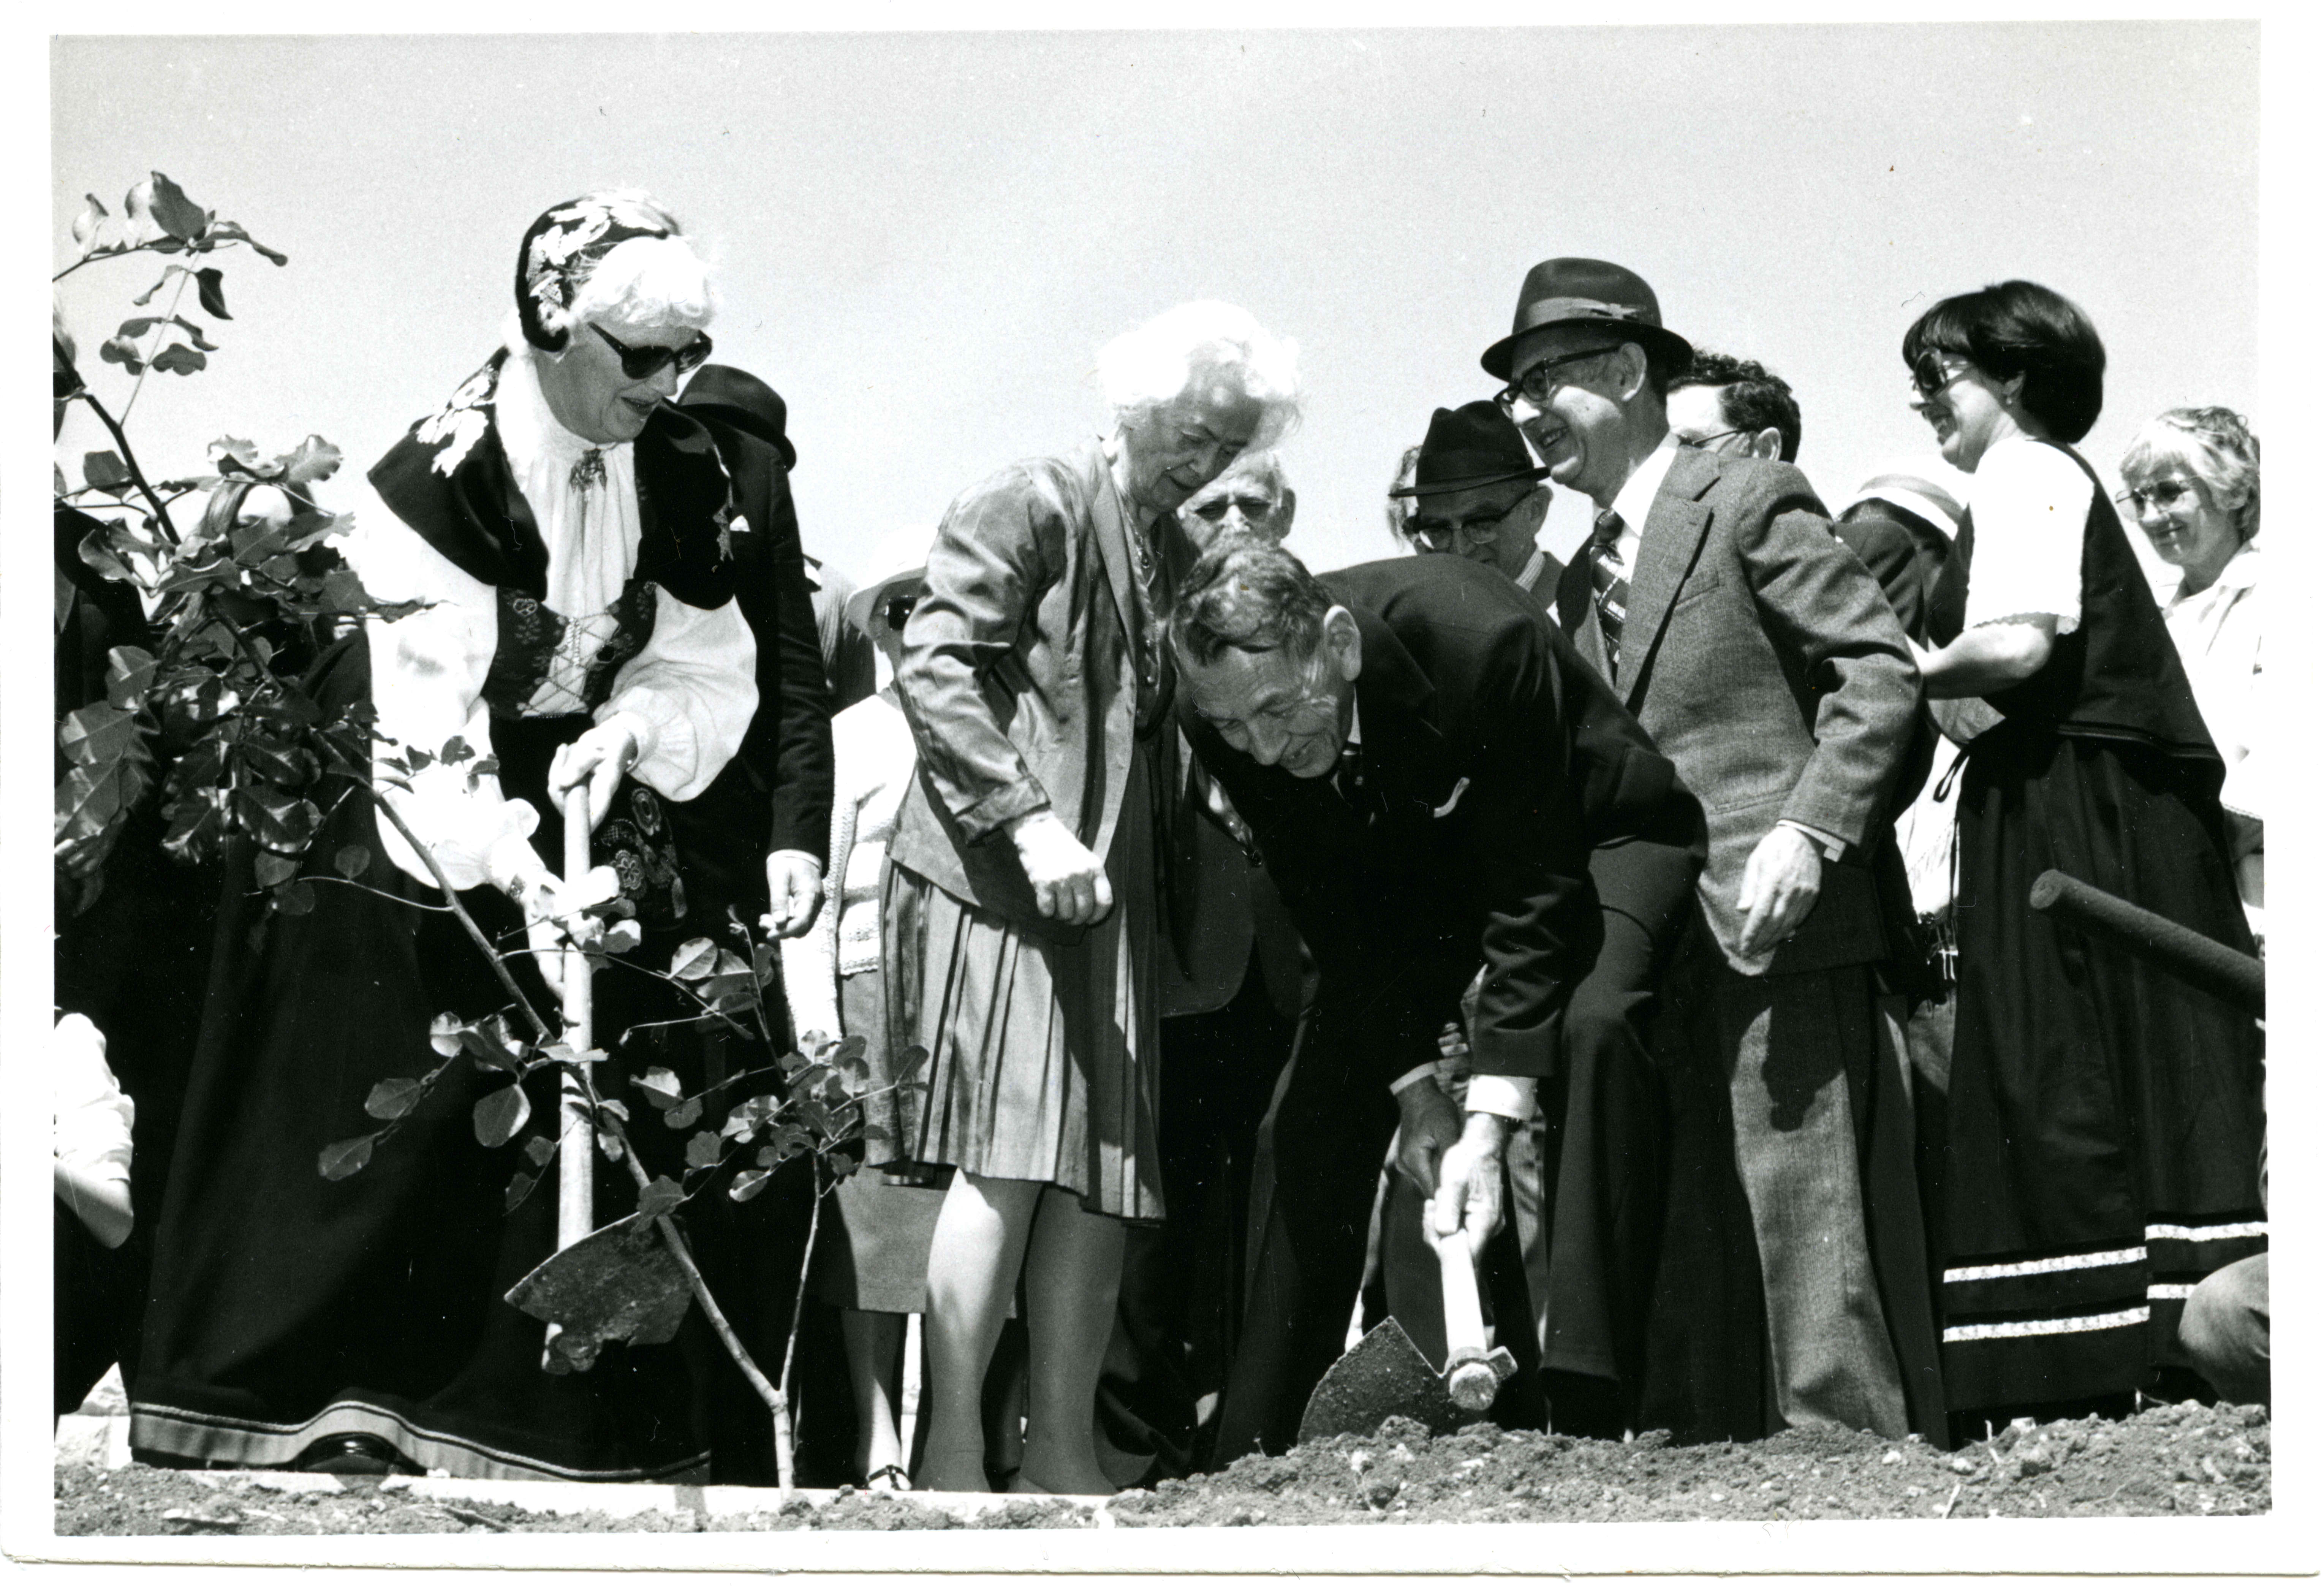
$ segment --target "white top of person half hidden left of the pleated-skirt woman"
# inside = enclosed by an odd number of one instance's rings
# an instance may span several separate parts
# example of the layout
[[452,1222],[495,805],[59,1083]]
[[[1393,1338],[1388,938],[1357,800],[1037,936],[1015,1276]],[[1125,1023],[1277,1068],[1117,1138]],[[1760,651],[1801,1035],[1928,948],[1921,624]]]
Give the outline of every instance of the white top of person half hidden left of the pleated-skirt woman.
[[871,694],[832,718],[832,862],[823,915],[806,936],[783,943],[783,989],[799,1031],[846,1033],[839,1029],[839,982],[881,966],[881,871],[918,764],[911,727],[890,694]]

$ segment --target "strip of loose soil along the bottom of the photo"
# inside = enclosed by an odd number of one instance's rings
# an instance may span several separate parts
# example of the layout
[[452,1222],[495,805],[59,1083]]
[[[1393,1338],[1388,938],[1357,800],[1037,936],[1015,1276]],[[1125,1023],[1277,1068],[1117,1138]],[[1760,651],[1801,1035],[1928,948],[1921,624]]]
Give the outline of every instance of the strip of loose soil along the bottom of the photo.
[[1685,1519],[1985,1519],[2261,1514],[2268,1412],[2157,1405],[2129,1421],[2017,1423],[1941,1454],[1920,1440],[1789,1430],[1764,1442],[1671,1447],[1471,1426],[1429,1437],[1390,1421],[1215,1477],[1122,1493],[1099,1509],[1018,1502],[955,1516],[909,1498],[844,1493],[758,1514],[532,1514],[351,1484],[328,1493],[218,1488],[181,1470],[56,1475],[58,1535],[342,1535],[490,1530],[1055,1530],[1085,1526],[1380,1526]]

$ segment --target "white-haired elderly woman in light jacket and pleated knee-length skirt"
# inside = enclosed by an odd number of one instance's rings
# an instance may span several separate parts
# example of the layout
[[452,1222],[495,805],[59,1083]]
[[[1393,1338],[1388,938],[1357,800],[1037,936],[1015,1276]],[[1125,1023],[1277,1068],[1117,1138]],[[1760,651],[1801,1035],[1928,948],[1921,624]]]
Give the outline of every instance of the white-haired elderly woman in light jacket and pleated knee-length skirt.
[[[1023,1273],[1032,1491],[1113,1491],[1092,1447],[1122,1224],[1162,1217],[1157,810],[1176,792],[1160,641],[1176,511],[1297,402],[1292,346],[1215,302],[1111,341],[1109,434],[944,513],[904,627],[920,748],[883,908],[890,1040],[930,1052],[899,1156],[955,1168],[927,1266],[920,1486],[983,1491],[978,1400]],[[1157,764],[1160,762],[1160,764]]]

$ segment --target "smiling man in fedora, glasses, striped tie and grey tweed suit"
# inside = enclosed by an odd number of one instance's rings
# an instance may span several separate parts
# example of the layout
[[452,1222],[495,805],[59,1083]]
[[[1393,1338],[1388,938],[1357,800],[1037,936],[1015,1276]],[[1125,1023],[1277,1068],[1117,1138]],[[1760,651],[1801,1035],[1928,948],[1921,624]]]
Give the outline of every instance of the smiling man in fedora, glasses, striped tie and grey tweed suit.
[[[1880,980],[1903,943],[1866,862],[1887,841],[1920,680],[1803,474],[1671,434],[1664,397],[1692,353],[1634,272],[1555,258],[1483,358],[1550,478],[1597,504],[1559,622],[1710,827],[1657,1031],[1671,1214],[1645,1416],[1694,1437],[1943,1435]],[[1499,1159],[1529,1089],[1471,1084],[1439,1228],[1483,1238],[1499,1221]]]

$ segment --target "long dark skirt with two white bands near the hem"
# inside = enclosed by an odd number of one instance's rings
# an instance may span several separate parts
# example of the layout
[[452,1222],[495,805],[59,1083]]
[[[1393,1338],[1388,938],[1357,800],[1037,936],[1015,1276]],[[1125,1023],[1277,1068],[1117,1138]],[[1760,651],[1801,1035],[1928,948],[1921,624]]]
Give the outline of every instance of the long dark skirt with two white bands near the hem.
[[2187,1291],[2266,1249],[2264,1036],[2027,894],[2057,868],[2252,952],[2219,806],[2164,755],[2003,727],[1959,822],[1948,1400],[2126,1393],[2185,1365]]

